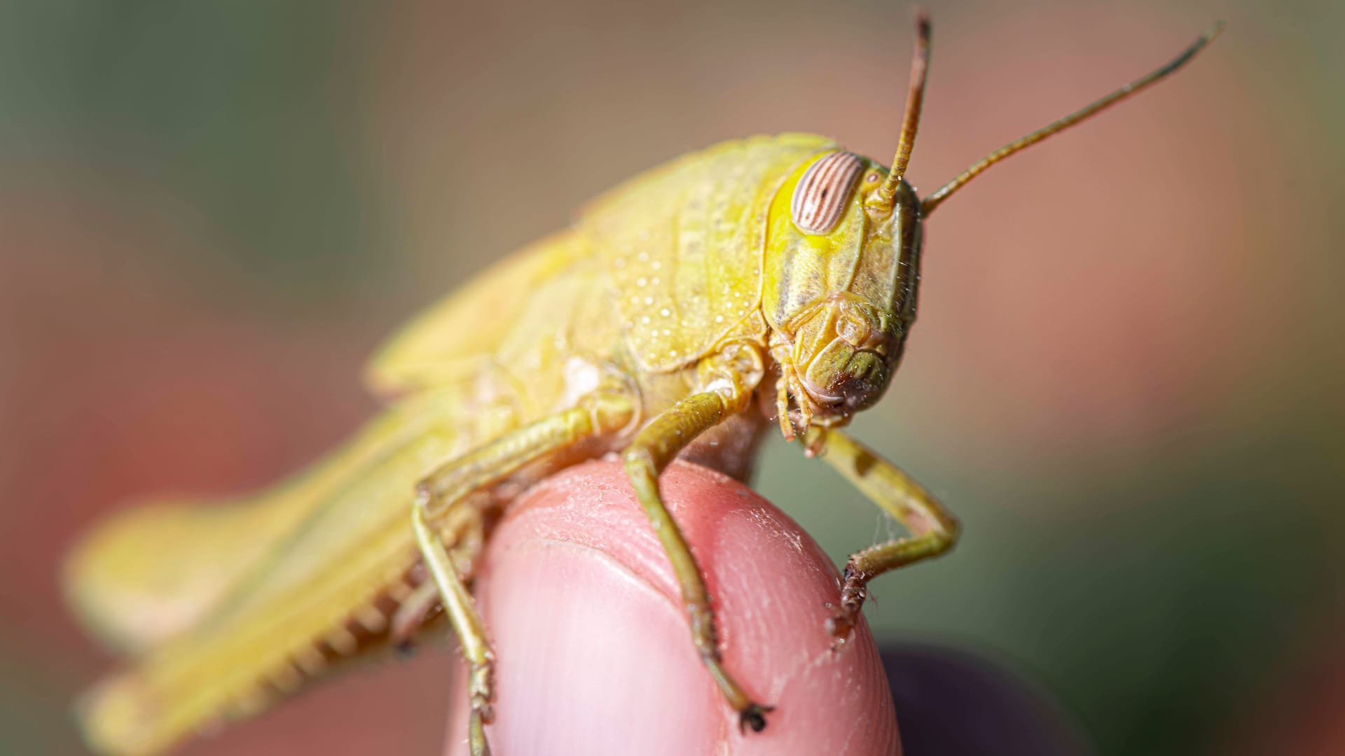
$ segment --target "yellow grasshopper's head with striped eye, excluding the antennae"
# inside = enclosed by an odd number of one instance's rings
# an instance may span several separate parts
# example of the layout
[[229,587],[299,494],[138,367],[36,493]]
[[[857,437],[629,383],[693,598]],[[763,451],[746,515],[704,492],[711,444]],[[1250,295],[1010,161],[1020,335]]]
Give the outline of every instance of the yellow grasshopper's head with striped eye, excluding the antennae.
[[796,169],[772,203],[763,312],[781,417],[792,401],[804,429],[845,425],[877,402],[915,320],[920,200],[905,182],[885,194],[885,174],[831,152]]

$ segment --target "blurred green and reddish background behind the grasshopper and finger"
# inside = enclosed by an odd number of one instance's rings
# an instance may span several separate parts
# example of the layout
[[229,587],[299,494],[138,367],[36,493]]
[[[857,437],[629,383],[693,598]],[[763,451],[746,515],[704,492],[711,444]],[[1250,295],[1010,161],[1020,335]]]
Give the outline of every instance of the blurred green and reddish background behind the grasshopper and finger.
[[[647,167],[780,130],[894,148],[907,3],[541,5],[0,4],[0,752],[83,752],[69,706],[109,658],[58,562],[128,498],[313,459],[374,410],[383,335]],[[931,219],[857,426],[966,537],[870,621],[1013,670],[1099,753],[1345,752],[1345,5],[928,5],[927,192],[1229,30]],[[796,455],[757,486],[829,553],[886,537]],[[430,753],[447,670],[184,752]]]

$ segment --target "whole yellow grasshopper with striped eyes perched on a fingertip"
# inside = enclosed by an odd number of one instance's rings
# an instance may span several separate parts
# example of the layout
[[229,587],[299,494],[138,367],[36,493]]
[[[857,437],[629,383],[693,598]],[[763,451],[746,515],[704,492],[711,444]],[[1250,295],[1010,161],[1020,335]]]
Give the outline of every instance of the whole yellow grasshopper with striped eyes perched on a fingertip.
[[89,744],[157,753],[335,663],[447,617],[469,666],[469,748],[488,752],[492,654],[468,585],[502,507],[608,452],[678,577],[691,640],[741,725],[712,600],[659,498],[682,456],[737,478],[777,420],[908,530],[850,557],[826,628],[849,638],[878,574],[948,550],[956,521],[841,429],[882,395],[916,316],[921,223],[990,165],[1153,85],[1180,56],[920,198],[904,172],[929,63],[917,46],[890,169],[807,135],[690,153],[499,262],[373,361],[389,409],[293,480],[217,506],[129,511],[71,554],[70,601],[130,662],[85,700]]

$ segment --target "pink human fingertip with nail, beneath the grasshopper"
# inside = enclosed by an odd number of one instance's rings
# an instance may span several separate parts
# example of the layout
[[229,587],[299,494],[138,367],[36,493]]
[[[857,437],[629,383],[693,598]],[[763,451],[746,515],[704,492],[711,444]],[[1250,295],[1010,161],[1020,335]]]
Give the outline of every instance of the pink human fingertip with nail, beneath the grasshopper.
[[[476,596],[496,654],[498,756],[514,753],[900,753],[868,624],[833,650],[838,573],[799,526],[746,486],[674,463],[664,502],[714,597],[726,667],[775,706],[737,714],[690,642],[672,569],[621,465],[577,465],[537,486],[495,530]],[[444,752],[465,753],[455,701]]]

